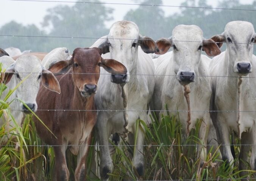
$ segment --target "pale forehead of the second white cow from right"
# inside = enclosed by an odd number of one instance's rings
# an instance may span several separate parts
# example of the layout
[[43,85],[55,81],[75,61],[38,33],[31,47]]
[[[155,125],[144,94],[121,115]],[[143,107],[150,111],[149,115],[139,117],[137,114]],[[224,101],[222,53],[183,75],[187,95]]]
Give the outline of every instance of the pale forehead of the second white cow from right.
[[178,25],[172,31],[172,38],[178,44],[198,44],[203,40],[203,31],[196,25]]

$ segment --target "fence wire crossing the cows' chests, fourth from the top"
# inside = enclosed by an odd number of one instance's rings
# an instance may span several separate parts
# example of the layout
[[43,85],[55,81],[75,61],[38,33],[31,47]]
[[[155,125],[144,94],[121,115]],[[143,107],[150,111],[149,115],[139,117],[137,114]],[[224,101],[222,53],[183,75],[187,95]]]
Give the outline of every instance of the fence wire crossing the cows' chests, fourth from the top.
[[[10,109],[10,110],[17,110],[22,111],[23,109]],[[122,112],[123,110],[79,110],[79,109],[37,109],[37,111],[97,111],[97,112]],[[126,110],[129,112],[145,112],[149,110]],[[256,112],[256,110],[150,110],[155,112]]]

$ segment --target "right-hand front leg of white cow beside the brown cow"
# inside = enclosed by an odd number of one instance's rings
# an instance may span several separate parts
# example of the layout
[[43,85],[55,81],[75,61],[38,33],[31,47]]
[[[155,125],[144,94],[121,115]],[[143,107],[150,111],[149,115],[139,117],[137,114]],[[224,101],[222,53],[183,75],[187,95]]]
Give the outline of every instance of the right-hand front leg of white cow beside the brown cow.
[[[147,115],[145,116],[144,119],[142,120],[147,120]],[[136,133],[136,127],[135,125],[133,126],[133,133]],[[142,128],[139,127],[137,130],[137,140],[136,140],[136,148],[135,148],[135,152],[133,155],[133,166],[135,167],[137,173],[139,174],[139,176],[142,176],[144,174],[144,132],[143,130],[141,130]],[[136,135],[134,135],[136,137]],[[134,145],[134,141],[133,143],[130,143]]]

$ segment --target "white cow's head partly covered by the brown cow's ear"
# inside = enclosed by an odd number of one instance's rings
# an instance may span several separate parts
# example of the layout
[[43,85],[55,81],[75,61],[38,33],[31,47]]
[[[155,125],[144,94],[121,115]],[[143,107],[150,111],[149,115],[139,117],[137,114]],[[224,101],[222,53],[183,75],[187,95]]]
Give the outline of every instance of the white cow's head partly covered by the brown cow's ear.
[[120,61],[127,69],[125,75],[112,74],[113,83],[127,83],[130,80],[131,72],[136,71],[138,46],[145,53],[158,52],[156,43],[150,37],[141,36],[138,26],[131,21],[117,21],[104,38],[98,46],[104,50],[102,53],[110,52],[110,57]]

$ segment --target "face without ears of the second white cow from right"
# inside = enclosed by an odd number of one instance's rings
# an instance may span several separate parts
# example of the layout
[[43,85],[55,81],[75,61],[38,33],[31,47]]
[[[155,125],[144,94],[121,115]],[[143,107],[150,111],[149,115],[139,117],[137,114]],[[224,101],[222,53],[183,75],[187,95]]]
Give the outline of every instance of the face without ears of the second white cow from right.
[[195,81],[201,51],[203,47],[203,32],[195,25],[176,26],[172,32],[174,73],[182,84]]

